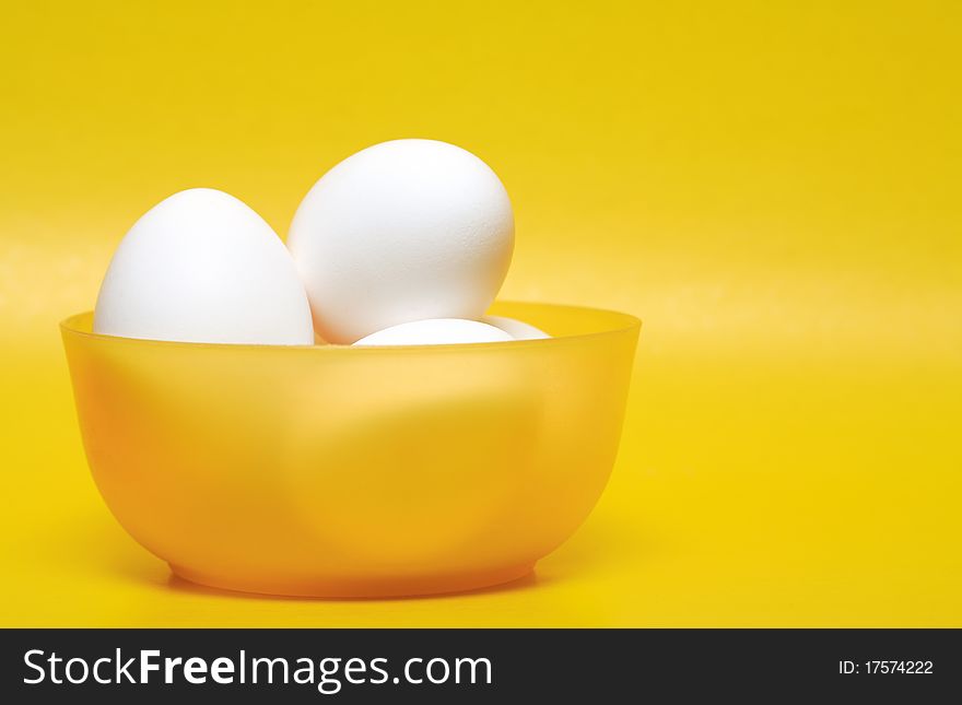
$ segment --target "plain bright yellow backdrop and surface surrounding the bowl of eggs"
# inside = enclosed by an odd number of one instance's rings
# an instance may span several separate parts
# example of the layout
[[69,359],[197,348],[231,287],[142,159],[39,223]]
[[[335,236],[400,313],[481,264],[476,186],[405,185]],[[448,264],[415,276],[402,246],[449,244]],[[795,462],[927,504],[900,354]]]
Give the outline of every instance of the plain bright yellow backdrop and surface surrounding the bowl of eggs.
[[[960,26],[908,0],[11,3],[0,622],[962,626]],[[283,234],[397,137],[503,177],[504,297],[645,320],[605,496],[509,588],[172,580],[91,481],[57,322],[168,193]]]

